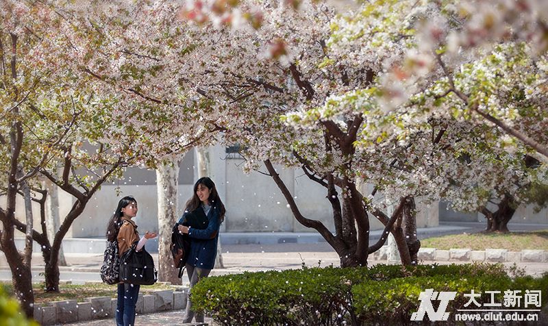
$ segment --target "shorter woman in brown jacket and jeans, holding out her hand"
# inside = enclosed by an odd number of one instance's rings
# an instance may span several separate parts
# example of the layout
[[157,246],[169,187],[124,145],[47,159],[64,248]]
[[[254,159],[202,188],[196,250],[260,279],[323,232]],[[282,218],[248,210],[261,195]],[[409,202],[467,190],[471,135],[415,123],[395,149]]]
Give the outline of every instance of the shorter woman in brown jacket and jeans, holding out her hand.
[[[132,218],[137,215],[137,201],[134,197],[123,197],[118,208],[110,218],[107,227],[107,238],[109,241],[118,241],[119,255],[122,256],[135,242],[138,242],[136,250],[139,251],[145,246],[148,239],[155,238],[155,233],[147,231],[143,238],[139,239],[137,225]],[[118,301],[116,306],[116,325],[135,325],[135,305],[139,296],[138,284],[118,284]]]

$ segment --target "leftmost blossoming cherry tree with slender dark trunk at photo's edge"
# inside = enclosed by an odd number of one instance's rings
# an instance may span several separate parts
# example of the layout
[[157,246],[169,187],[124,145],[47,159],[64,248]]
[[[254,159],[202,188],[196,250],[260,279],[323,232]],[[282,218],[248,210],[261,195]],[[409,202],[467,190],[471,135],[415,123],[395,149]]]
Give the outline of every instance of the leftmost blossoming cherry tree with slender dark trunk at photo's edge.
[[[53,64],[56,60],[49,55],[52,48],[49,40],[37,37],[53,36],[49,27],[55,22],[40,25],[33,19],[35,14],[47,16],[47,11],[34,8],[33,12],[24,3],[11,1],[4,1],[1,11],[3,118],[0,143],[5,207],[0,208],[0,243],[12,271],[14,292],[23,303],[25,313],[32,316],[32,190],[38,188],[35,177],[40,168],[55,157],[55,149],[64,145],[75,128],[75,116],[80,109],[74,104],[80,95],[62,94],[73,80],[63,74],[63,67]],[[26,223],[15,217],[19,194],[25,203]],[[23,252],[15,247],[16,228],[25,233]],[[45,225],[42,225],[42,236],[47,239]]]

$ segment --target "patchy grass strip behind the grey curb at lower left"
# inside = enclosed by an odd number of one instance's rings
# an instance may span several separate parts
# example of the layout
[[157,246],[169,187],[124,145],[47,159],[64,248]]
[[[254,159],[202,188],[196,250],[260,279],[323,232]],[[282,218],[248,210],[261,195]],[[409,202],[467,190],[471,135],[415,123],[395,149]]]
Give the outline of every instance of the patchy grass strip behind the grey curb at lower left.
[[[6,292],[13,295],[11,282],[1,282],[1,285],[5,287]],[[45,292],[43,283],[32,284],[34,289],[34,303],[38,305],[44,305],[50,301],[62,301],[75,299],[78,302],[83,302],[84,299],[89,297],[116,297],[116,286],[107,285],[103,283],[98,284],[60,284],[59,293]],[[166,284],[154,284],[152,286],[141,286],[139,293],[149,292],[151,290],[173,290],[171,286]]]

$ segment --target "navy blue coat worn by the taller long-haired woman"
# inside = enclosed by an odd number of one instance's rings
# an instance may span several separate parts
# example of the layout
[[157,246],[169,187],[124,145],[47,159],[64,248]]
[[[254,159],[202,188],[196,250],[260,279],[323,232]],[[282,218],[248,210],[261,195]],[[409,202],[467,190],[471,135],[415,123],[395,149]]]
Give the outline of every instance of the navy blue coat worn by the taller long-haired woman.
[[[185,212],[179,219],[182,224],[185,221]],[[190,237],[190,253],[186,264],[191,264],[198,268],[213,269],[215,257],[217,255],[217,241],[219,240],[219,228],[221,227],[221,218],[219,209],[212,206],[208,213],[208,227],[206,229],[194,229],[190,227],[188,236]]]

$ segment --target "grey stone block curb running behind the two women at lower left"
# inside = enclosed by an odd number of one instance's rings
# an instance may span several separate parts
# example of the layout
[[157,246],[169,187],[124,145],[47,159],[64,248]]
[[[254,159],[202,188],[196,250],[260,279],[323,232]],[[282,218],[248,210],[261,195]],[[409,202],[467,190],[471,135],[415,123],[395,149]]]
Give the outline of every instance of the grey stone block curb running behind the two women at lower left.
[[[188,288],[179,286],[175,290],[152,290],[142,292],[136,304],[137,314],[151,314],[169,310],[184,310]],[[84,302],[76,300],[51,301],[45,306],[34,306],[34,319],[40,325],[58,325],[92,321],[103,318],[113,319],[116,315],[116,298],[90,297]],[[192,325],[208,325],[196,323]]]

